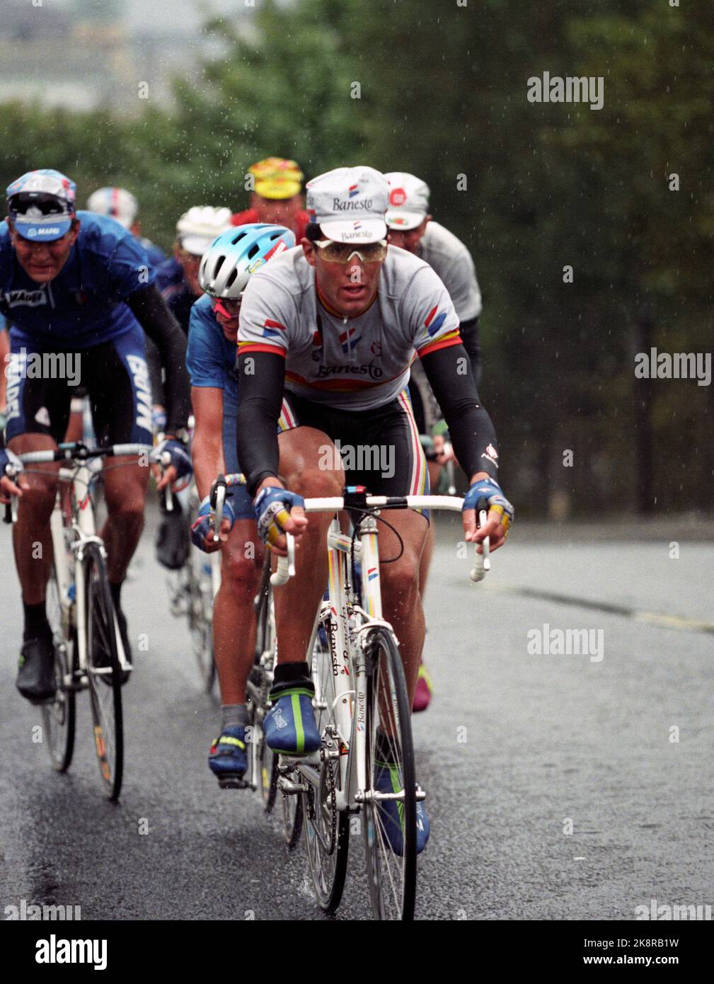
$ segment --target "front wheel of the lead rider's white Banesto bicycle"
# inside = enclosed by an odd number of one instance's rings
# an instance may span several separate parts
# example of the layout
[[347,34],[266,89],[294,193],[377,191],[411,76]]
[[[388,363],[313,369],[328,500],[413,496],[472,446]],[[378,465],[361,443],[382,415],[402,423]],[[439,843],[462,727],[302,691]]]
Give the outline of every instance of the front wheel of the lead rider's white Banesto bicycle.
[[379,771],[398,799],[368,797],[365,857],[377,919],[414,918],[416,898],[416,778],[411,707],[399,649],[384,629],[369,633],[367,679],[367,777],[375,790]]

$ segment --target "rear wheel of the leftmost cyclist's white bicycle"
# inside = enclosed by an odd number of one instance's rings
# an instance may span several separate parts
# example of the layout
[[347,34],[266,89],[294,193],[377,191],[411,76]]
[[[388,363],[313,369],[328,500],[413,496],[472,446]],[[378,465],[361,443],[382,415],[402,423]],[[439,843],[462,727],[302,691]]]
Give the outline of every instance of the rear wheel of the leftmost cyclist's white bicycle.
[[74,667],[76,646],[74,634],[65,635],[60,589],[54,563],[47,583],[47,620],[54,640],[54,675],[57,684],[55,699],[42,705],[44,734],[52,764],[58,772],[66,772],[72,762],[75,748],[76,705],[75,692],[66,680]]

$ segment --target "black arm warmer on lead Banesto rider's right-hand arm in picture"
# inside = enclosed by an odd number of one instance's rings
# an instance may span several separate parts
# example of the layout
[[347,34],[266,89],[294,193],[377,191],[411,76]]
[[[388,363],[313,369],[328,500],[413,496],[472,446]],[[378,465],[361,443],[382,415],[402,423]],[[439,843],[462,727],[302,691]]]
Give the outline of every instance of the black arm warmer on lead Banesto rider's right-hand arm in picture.
[[[466,372],[464,362],[459,359],[465,359]],[[449,345],[430,352],[422,359],[422,365],[448,424],[453,453],[466,477],[470,479],[476,471],[486,471],[497,478],[498,455],[487,450],[491,445],[498,451],[496,431],[479,401],[463,345]]]

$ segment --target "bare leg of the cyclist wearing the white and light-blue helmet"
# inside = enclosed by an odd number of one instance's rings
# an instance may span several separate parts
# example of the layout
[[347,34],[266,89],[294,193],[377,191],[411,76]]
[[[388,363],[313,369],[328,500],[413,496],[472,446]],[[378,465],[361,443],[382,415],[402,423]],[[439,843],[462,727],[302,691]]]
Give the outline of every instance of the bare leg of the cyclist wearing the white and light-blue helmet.
[[[247,544],[253,549],[247,551]],[[220,588],[213,603],[213,650],[222,704],[245,704],[256,645],[253,599],[263,557],[256,523],[237,520],[221,549]]]

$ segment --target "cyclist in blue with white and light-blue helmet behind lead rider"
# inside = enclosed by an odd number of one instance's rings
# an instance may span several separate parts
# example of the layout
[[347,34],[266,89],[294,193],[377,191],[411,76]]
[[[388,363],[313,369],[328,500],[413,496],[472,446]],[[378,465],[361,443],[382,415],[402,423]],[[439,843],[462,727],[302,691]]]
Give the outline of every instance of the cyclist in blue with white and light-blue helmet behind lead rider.
[[220,589],[213,605],[221,728],[208,755],[208,767],[221,784],[241,778],[247,768],[246,682],[253,665],[253,598],[264,551],[253,501],[245,486],[235,486],[226,500],[218,543],[208,526],[208,492],[217,474],[240,471],[235,450],[236,338],[243,291],[254,270],[294,244],[292,232],[280,225],[231,227],[218,236],[204,256],[199,276],[206,293],[191,310],[186,361],[196,421],[192,457],[203,498],[192,537],[202,550],[221,551]]

